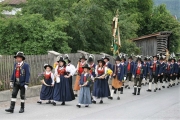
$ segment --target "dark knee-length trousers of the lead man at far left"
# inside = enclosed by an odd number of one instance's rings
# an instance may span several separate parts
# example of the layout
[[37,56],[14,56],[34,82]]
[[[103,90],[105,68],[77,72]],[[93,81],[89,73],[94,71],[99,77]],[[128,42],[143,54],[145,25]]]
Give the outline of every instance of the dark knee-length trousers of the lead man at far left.
[[20,90],[21,100],[25,100],[25,87],[20,86],[20,84],[17,84],[17,83],[15,83],[15,85],[13,87],[12,98],[17,97],[17,94],[18,94],[19,90]]

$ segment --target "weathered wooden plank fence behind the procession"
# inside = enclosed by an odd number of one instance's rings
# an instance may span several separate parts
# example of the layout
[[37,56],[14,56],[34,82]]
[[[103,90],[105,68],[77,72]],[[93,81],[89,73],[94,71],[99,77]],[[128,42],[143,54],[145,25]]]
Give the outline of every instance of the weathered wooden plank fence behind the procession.
[[[80,53],[71,53],[68,54],[69,58],[71,60],[71,63],[73,65],[77,65],[77,62],[80,57]],[[0,58],[0,91],[9,89],[9,81],[11,79],[11,75],[13,72],[13,66],[15,63],[15,59],[13,58],[13,55],[3,55]],[[49,63],[53,65],[55,62],[55,55],[48,54],[48,55],[26,55],[25,62],[29,64],[30,66],[30,86],[38,85],[40,84],[39,81],[37,81],[37,76],[39,73],[42,73],[44,71],[43,65],[45,63]],[[97,63],[97,60],[102,58],[102,55],[95,55],[95,63]],[[113,62],[113,58],[110,57],[110,62]],[[74,83],[75,77],[73,77],[73,83]]]

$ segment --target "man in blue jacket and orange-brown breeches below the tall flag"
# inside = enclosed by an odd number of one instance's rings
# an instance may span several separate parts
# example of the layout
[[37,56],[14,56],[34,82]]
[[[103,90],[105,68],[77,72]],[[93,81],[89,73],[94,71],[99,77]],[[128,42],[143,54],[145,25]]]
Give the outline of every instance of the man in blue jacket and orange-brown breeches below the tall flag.
[[117,100],[120,100],[120,91],[123,85],[122,80],[124,79],[124,68],[121,65],[121,59],[119,56],[115,59],[116,64],[113,66],[113,80],[112,80],[112,90],[111,96],[108,99],[113,99],[114,91],[118,90],[118,97]]

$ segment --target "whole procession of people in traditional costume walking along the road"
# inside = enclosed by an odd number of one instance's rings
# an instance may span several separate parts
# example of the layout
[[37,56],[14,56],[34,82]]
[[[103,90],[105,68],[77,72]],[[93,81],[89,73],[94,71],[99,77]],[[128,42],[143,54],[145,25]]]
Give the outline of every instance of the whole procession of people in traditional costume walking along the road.
[[[30,79],[30,67],[24,62],[23,52],[18,52],[14,58],[14,70],[10,81],[13,88],[10,108],[6,112],[13,113],[16,97],[20,90],[21,108],[19,113],[25,110],[25,91],[28,88]],[[126,61],[128,58],[128,61]],[[134,58],[134,59],[133,59]],[[82,105],[89,107],[90,104],[103,104],[103,99],[113,100],[117,94],[123,94],[125,88],[132,90],[132,95],[140,95],[141,88],[148,84],[147,92],[157,92],[164,88],[170,88],[180,84],[180,59],[167,57],[163,54],[150,56],[130,55],[120,53],[110,63],[110,57],[102,56],[95,61],[95,56],[82,55],[77,60],[77,67],[71,64],[69,56],[58,56],[54,67],[44,64],[42,88],[38,104],[46,100],[46,104],[56,106],[59,102],[65,105],[66,102],[75,100],[78,97],[76,107]],[[53,71],[54,70],[54,71]],[[76,75],[75,83],[73,76]],[[109,85],[112,80],[111,87]],[[133,82],[133,85],[131,84]],[[168,86],[165,86],[168,82]],[[154,85],[154,87],[153,87]]]

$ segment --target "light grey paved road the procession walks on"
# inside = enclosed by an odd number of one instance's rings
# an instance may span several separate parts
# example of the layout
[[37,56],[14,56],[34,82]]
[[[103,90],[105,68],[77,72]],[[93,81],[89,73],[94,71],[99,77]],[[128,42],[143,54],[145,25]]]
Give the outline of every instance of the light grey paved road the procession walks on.
[[121,100],[104,99],[104,104],[76,108],[77,99],[66,106],[36,104],[38,97],[28,98],[24,114],[19,114],[19,101],[14,114],[4,111],[9,102],[0,102],[0,120],[180,120],[180,85],[156,93],[146,92],[144,86],[140,96],[133,96],[133,89],[125,89]]

